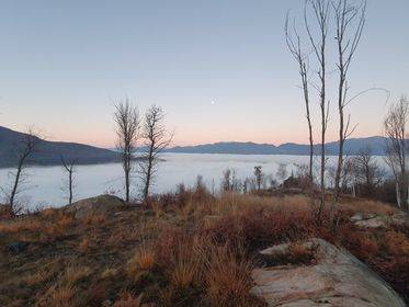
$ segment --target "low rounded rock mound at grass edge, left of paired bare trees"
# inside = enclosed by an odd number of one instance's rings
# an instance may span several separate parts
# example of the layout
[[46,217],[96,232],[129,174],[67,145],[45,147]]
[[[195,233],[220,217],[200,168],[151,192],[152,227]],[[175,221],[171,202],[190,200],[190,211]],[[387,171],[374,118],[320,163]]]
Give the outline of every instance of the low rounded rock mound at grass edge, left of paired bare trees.
[[67,205],[65,211],[73,213],[76,218],[84,218],[91,214],[115,214],[123,211],[125,206],[120,197],[105,194]]

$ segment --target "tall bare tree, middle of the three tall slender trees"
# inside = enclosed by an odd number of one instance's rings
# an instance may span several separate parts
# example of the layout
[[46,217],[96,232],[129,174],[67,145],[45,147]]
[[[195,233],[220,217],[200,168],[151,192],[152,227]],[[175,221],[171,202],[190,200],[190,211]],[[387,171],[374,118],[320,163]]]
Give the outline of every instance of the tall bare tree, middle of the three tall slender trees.
[[[308,15],[310,9],[310,15]],[[313,54],[318,62],[318,83],[314,84],[319,94],[319,107],[321,117],[321,166],[320,166],[320,203],[316,219],[321,223],[321,215],[326,203],[326,133],[328,127],[329,101],[327,101],[327,38],[330,18],[329,0],[306,0],[304,8],[304,24],[307,31]],[[309,20],[316,23],[316,31],[311,27]]]

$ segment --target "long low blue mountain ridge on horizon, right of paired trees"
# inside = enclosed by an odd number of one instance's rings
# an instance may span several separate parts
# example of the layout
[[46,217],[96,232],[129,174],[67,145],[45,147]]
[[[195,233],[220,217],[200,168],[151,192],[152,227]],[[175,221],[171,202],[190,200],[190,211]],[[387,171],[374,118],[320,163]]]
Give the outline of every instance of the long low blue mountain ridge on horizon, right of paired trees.
[[[344,154],[356,155],[364,148],[371,148],[375,156],[385,156],[386,138],[382,136],[350,138],[345,140]],[[314,155],[321,152],[319,144],[314,146]],[[326,154],[329,156],[338,155],[339,141],[326,144]],[[175,146],[168,148],[167,152],[174,154],[232,154],[232,155],[309,155],[309,145],[286,143],[280,146],[272,144],[240,143],[240,141],[220,141],[214,144],[204,144],[195,146]]]

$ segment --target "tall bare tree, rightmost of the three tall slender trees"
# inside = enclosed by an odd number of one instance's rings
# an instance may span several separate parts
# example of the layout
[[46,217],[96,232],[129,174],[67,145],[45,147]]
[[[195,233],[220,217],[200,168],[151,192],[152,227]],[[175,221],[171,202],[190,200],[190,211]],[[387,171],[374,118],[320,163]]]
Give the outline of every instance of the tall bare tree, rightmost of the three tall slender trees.
[[[348,100],[348,73],[360,44],[362,32],[365,25],[366,0],[360,3],[354,0],[333,0],[331,5],[334,12],[336,42],[338,50],[338,113],[339,113],[339,148],[338,164],[336,171],[333,202],[331,213],[340,192],[340,182],[343,168],[343,147],[345,139],[353,133],[350,127],[351,116],[345,120],[345,106],[352,101]],[[332,215],[332,214],[331,214]]]

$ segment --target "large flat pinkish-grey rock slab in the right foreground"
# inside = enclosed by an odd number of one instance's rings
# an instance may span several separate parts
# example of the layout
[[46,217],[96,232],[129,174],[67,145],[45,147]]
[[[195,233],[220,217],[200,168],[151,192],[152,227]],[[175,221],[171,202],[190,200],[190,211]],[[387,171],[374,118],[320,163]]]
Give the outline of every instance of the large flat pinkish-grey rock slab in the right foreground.
[[[302,245],[316,247],[314,264],[255,269],[252,294],[269,306],[281,307],[406,306],[385,281],[348,251],[321,239]],[[286,248],[288,245],[281,245],[261,253],[274,254]]]

